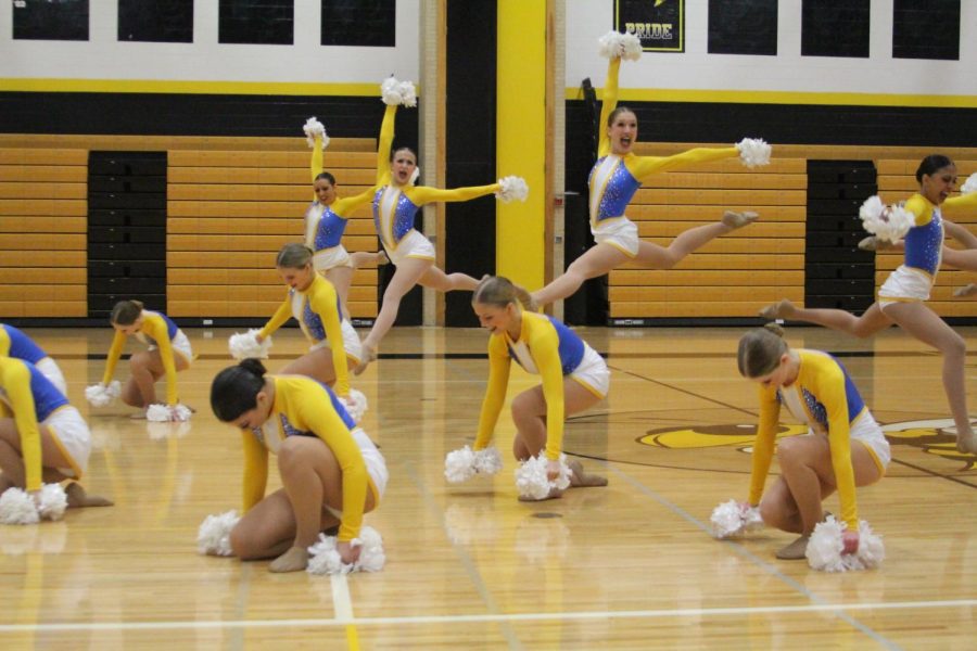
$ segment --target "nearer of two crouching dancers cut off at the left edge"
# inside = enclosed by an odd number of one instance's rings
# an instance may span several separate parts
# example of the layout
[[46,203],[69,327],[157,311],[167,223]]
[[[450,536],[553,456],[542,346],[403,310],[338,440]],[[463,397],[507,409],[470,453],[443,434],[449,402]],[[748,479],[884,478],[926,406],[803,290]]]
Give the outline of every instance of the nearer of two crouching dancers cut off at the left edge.
[[40,506],[41,482],[75,480],[67,507],[107,507],[87,495],[78,480],[88,468],[91,433],[64,394],[29,361],[0,357],[0,493],[27,490]]

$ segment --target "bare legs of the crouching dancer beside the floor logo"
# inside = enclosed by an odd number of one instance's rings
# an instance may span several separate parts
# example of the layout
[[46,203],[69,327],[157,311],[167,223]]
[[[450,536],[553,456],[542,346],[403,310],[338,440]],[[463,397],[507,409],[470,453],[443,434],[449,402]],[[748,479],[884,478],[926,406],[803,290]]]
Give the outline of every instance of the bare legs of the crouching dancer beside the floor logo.
[[[791,436],[777,443],[781,476],[760,503],[760,514],[770,526],[801,537],[777,552],[777,558],[800,559],[807,539],[824,519],[822,501],[837,489],[832,450],[825,436]],[[872,455],[861,443],[851,443],[855,486],[881,478]]]

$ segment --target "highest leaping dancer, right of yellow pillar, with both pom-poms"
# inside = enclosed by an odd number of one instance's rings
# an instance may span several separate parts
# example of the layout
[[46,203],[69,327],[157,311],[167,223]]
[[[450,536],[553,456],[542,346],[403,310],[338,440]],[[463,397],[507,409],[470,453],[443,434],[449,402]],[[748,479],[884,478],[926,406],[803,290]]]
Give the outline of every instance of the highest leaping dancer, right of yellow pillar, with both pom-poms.
[[600,110],[600,144],[597,163],[591,170],[591,232],[597,244],[573,260],[567,271],[532,294],[533,304],[543,306],[570,296],[584,281],[604,276],[631,260],[651,269],[671,269],[691,252],[711,240],[757,220],[756,213],[726,210],[716,224],[699,226],[681,233],[668,246],[638,238],[637,225],[624,216],[635,192],[651,175],[741,156],[748,167],[770,162],[770,145],[746,139],[726,149],[698,148],[674,156],[638,156],[632,149],[637,141],[637,117],[618,103],[618,73],[621,59],[636,60],[640,43],[634,35],[611,31],[601,39],[602,54],[610,59]]

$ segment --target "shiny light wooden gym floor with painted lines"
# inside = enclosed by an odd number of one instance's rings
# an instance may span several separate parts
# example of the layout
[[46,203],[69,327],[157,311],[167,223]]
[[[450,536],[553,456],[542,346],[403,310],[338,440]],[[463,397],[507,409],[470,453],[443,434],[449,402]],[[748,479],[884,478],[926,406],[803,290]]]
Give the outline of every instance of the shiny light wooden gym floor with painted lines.
[[[961,331],[974,405],[977,329]],[[198,409],[183,425],[88,407],[107,326],[29,332],[91,425],[85,484],[116,506],[0,526],[3,649],[972,649],[977,635],[977,459],[937,433],[948,422],[939,356],[894,329],[867,341],[788,332],[839,355],[889,430],[888,476],[859,492],[886,545],[877,571],[777,561],[791,539],[779,532],[709,536],[712,508],[747,494],[757,410],[736,372],[741,329],[582,329],[609,356],[611,392],[569,422],[564,447],[610,485],[530,505],[516,499],[508,411],[504,471],[461,486],[443,477],[445,454],[474,435],[486,334],[395,329],[354,382],[391,472],[366,519],[388,564],[333,578],[196,553],[204,516],[240,508],[240,439],[207,403],[231,331],[187,331],[200,359],[179,375]],[[282,331],[268,366],[304,347]],[[509,397],[533,383],[513,370]]]

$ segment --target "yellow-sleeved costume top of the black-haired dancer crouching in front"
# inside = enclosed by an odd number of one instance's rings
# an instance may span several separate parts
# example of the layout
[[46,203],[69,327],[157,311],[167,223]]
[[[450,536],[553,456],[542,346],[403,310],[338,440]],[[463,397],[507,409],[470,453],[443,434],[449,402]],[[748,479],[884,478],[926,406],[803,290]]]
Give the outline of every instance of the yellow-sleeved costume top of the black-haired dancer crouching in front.
[[268,450],[278,452],[288,436],[317,436],[329,446],[343,473],[343,509],[339,540],[359,535],[367,490],[380,503],[380,490],[367,471],[356,425],[328,386],[301,375],[266,375],[275,383],[275,403],[264,425],[241,430],[244,443],[244,512],[265,496]]

